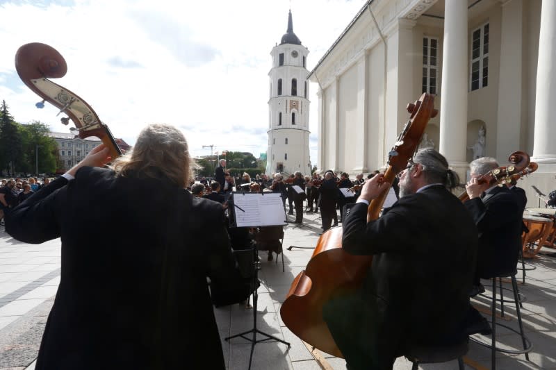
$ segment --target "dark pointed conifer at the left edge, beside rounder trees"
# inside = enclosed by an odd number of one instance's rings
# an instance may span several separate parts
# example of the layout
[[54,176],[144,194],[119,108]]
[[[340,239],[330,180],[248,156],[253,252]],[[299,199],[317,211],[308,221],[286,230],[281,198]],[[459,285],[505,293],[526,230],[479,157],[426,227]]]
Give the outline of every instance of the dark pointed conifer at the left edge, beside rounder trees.
[[23,153],[21,137],[18,134],[17,123],[8,112],[6,101],[0,107],[0,174],[7,169],[8,173],[15,173],[16,164]]

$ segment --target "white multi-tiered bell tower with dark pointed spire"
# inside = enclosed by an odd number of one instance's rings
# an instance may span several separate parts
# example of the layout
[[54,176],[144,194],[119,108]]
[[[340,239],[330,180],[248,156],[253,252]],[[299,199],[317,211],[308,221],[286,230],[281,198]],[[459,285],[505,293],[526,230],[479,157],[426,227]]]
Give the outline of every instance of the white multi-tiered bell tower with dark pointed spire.
[[268,151],[266,171],[311,174],[309,161],[309,50],[293,33],[291,10],[288,30],[272,48],[268,101]]

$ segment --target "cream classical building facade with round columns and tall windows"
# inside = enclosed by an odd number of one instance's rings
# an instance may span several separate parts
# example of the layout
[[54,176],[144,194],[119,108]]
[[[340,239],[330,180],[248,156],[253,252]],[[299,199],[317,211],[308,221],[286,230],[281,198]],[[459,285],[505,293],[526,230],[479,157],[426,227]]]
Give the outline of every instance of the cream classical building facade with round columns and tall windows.
[[[386,165],[407,103],[436,95],[426,146],[466,178],[487,155],[526,151],[529,206],[556,188],[556,1],[370,0],[309,74],[318,85],[318,169]],[[542,47],[539,49],[539,44]]]

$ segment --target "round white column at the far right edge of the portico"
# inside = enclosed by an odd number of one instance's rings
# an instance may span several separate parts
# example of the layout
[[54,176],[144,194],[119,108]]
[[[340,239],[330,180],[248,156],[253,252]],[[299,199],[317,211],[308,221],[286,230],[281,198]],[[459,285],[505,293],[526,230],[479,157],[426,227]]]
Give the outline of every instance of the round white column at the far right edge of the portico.
[[535,94],[533,160],[556,163],[556,1],[543,1]]

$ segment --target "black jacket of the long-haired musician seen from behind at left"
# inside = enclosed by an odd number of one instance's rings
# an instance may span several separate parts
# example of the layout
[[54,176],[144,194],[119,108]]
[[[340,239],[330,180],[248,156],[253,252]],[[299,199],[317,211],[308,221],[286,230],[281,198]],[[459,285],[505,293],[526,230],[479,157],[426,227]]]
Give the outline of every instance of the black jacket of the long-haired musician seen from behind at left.
[[215,304],[249,291],[223,220],[222,205],[167,180],[92,167],[15,208],[15,239],[62,241],[36,368],[224,369],[206,276]]

